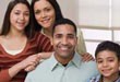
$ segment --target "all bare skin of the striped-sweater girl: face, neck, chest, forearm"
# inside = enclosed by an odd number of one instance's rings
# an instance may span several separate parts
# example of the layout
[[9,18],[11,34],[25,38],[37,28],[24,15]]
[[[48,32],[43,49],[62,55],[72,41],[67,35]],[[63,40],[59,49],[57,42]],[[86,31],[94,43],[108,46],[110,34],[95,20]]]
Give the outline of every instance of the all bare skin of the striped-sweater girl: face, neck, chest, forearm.
[[[27,42],[27,37],[24,34],[24,28],[28,24],[28,8],[23,3],[17,3],[10,13],[11,26],[9,34],[0,36],[0,44],[2,44],[2,47],[5,47],[9,50],[23,50]],[[36,66],[39,62],[39,55],[33,55],[11,67],[9,69],[9,74],[11,79],[26,67]]]

